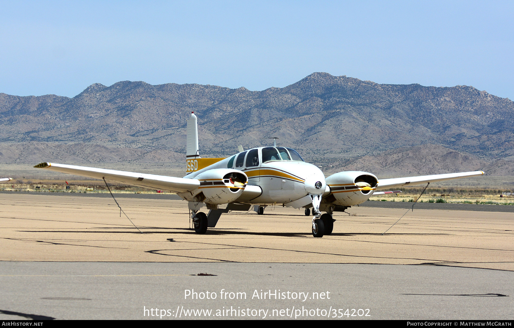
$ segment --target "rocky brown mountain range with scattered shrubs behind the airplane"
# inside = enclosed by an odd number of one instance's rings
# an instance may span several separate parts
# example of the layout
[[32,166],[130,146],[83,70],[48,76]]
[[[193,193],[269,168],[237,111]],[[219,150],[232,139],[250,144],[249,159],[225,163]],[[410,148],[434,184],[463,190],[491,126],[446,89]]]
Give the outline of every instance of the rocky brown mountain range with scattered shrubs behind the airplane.
[[[449,161],[470,167],[514,158],[508,99],[469,86],[376,84],[313,73],[263,91],[123,81],[93,84],[71,99],[0,93],[0,163],[182,161],[191,111],[207,156],[279,137],[306,160],[333,169],[403,165],[421,173],[426,152],[440,151],[419,145],[449,148],[455,151]],[[399,155],[404,152],[412,156]],[[452,171],[445,161],[431,161],[433,169]]]

